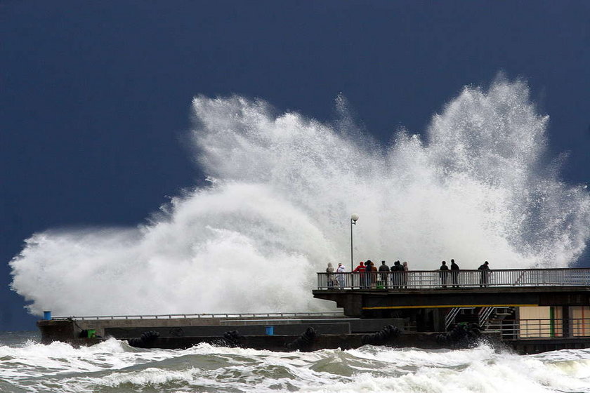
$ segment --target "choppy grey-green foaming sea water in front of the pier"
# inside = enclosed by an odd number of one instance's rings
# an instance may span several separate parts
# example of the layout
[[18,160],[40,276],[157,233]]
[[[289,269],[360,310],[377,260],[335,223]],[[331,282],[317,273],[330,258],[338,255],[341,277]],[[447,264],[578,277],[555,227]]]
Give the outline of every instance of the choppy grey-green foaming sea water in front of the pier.
[[197,345],[92,347],[0,333],[0,392],[590,392],[590,349],[270,352]]

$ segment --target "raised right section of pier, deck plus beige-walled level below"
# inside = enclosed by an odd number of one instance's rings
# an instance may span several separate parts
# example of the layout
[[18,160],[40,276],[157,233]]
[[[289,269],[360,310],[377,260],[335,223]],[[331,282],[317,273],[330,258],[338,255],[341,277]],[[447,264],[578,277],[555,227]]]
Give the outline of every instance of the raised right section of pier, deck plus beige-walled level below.
[[473,322],[523,353],[590,346],[588,268],[320,272],[313,296],[417,332]]

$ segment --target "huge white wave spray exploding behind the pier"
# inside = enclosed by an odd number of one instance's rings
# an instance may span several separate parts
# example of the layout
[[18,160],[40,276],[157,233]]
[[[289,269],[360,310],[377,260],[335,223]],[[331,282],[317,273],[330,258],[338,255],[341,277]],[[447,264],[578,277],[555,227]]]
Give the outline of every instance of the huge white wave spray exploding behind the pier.
[[[547,164],[547,117],[527,86],[465,88],[428,138],[381,147],[337,126],[234,96],[197,97],[197,156],[211,184],[131,229],[34,234],[10,262],[40,314],[313,311],[316,271],[358,260],[433,269],[564,267],[590,237],[590,196]],[[343,105],[339,105],[342,107]]]

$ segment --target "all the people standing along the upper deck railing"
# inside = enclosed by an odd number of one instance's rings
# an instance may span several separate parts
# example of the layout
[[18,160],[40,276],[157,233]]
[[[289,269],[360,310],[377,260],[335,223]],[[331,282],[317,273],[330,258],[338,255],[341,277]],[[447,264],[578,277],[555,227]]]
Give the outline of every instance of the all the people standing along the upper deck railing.
[[[483,265],[478,267],[478,270],[481,270],[481,277],[480,277],[480,287],[487,286],[487,276],[488,272],[490,272],[490,263],[483,262]],[[439,276],[440,276],[440,284],[442,288],[447,288],[448,277],[451,277],[451,285],[452,288],[459,288],[459,265],[455,262],[454,259],[451,260],[451,267],[447,266],[446,261],[442,261],[442,265],[440,265]],[[328,263],[328,267],[326,268],[327,274],[327,285],[329,288],[334,286],[339,286],[340,288],[344,288],[344,274],[345,271],[344,265],[341,263],[338,264],[336,268],[336,272],[334,272],[334,267],[332,263]],[[381,266],[379,269],[375,266],[372,260],[367,260],[366,262],[360,262],[355,269],[353,269],[353,273],[364,273],[359,274],[359,280],[357,285],[351,282],[348,286],[359,286],[360,288],[374,288],[374,287],[394,287],[394,288],[407,288],[407,271],[408,266],[407,262],[401,263],[399,260],[396,260],[393,263],[393,266],[390,268],[386,265],[384,260],[381,261]],[[334,274],[336,273],[336,274]],[[370,274],[367,274],[370,273]]]

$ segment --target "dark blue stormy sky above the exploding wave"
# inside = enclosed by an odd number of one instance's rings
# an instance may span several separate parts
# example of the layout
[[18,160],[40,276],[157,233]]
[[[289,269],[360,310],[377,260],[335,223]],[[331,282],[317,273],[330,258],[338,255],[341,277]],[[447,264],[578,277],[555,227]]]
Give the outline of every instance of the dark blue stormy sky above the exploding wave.
[[503,72],[550,116],[563,180],[589,181],[588,1],[4,0],[0,41],[4,331],[34,330],[9,288],[25,239],[135,226],[204,184],[186,142],[196,95],[330,121],[342,94],[385,144]]

